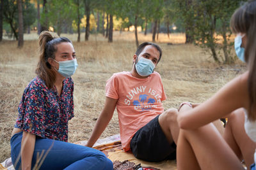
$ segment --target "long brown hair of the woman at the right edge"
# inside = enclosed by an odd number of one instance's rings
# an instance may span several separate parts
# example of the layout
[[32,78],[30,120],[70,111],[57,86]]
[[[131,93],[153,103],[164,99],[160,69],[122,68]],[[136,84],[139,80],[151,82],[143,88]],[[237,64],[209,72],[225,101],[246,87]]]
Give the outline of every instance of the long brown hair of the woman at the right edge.
[[234,33],[246,34],[244,59],[249,69],[248,92],[250,107],[248,119],[256,120],[256,1],[248,1],[232,15],[230,27]]

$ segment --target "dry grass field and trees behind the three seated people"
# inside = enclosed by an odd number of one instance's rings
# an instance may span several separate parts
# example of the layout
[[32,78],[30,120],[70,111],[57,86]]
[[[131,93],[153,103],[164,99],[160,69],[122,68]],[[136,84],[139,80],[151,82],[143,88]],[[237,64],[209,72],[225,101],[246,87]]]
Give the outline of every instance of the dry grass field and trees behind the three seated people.
[[[75,117],[69,141],[88,139],[104,105],[106,80],[131,71],[143,41],[163,48],[157,66],[167,100],[205,101],[246,69],[236,59],[229,21],[237,0],[1,0],[0,4],[0,162],[10,157],[10,134],[26,85],[35,77],[38,35],[54,31],[72,39],[79,67]],[[115,113],[101,138],[117,134]]]

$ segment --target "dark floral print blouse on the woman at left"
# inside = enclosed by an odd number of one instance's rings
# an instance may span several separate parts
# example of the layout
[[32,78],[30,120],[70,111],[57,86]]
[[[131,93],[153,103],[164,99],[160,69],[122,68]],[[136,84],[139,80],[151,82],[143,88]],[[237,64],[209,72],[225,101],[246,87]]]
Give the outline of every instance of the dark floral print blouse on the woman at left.
[[74,82],[63,80],[58,96],[56,87],[48,89],[44,80],[36,76],[24,90],[19,104],[15,127],[41,138],[68,140],[68,120],[74,117]]

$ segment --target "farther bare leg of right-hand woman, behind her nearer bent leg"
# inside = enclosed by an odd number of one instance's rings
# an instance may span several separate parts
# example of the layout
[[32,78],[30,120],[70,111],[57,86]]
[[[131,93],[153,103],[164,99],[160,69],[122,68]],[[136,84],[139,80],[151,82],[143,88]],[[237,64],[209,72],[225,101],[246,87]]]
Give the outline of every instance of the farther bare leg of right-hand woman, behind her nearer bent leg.
[[244,159],[247,169],[253,164],[256,145],[244,130],[244,110],[238,109],[230,114],[223,138],[240,160]]

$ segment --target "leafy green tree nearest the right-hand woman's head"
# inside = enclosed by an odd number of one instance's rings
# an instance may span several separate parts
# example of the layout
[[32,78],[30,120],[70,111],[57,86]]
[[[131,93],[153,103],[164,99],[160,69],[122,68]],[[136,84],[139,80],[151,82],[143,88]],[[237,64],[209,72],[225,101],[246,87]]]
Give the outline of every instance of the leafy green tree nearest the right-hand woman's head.
[[[230,55],[233,43],[230,42],[229,20],[240,3],[241,0],[175,0],[186,33],[193,42],[208,48],[216,62],[223,60],[225,63],[234,61]],[[223,50],[224,57],[220,50]]]

